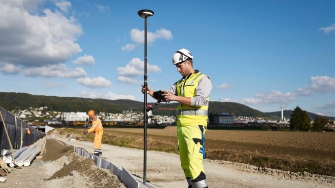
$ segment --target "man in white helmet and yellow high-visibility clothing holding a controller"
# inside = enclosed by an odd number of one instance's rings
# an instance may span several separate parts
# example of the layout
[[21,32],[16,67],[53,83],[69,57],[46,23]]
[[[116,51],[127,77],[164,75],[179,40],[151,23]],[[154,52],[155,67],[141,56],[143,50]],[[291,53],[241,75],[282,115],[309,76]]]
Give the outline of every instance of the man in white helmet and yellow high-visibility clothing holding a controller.
[[[203,159],[206,159],[205,131],[212,83],[206,74],[193,69],[193,56],[188,50],[178,50],[172,63],[183,78],[169,90],[163,90],[163,94],[149,86],[147,93],[157,100],[180,102],[177,107],[177,137],[181,167],[188,187],[208,187]],[[142,93],[144,91],[142,86]]]

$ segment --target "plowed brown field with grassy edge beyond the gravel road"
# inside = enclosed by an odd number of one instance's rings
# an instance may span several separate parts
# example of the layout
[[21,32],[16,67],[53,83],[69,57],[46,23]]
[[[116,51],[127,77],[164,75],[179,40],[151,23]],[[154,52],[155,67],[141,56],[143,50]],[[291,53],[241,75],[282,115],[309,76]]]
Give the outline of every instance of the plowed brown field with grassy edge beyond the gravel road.
[[[64,129],[91,141],[84,129]],[[147,149],[178,153],[176,127],[147,129]],[[143,148],[143,128],[105,128],[103,143]],[[258,167],[335,176],[335,134],[329,132],[207,130],[207,158]]]

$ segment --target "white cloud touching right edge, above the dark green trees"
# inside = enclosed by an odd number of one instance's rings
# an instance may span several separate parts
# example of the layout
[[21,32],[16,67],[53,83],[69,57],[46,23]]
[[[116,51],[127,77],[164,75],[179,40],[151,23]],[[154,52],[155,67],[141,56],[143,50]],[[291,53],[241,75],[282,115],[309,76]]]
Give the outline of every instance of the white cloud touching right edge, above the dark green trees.
[[315,93],[335,91],[335,77],[319,76],[311,77],[310,86],[297,89],[297,95],[308,96]]

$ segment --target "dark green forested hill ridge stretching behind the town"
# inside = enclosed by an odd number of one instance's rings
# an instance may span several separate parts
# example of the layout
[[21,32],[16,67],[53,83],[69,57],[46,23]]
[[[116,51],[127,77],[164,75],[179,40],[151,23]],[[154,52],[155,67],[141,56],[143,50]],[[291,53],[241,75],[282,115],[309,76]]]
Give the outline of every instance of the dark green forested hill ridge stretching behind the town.
[[[143,111],[143,102],[134,100],[107,100],[107,99],[90,99],[80,97],[56,97],[44,95],[31,95],[27,93],[14,92],[0,92],[0,106],[11,111],[14,109],[28,109],[29,107],[47,106],[50,111],[88,111],[93,109],[96,112],[120,113],[123,110]],[[153,103],[148,103],[153,104]],[[156,115],[175,115],[175,108],[178,103],[160,103],[153,110]],[[235,102],[216,102],[211,101],[209,114],[219,114],[220,112],[228,112],[235,116],[244,117],[266,117],[266,118],[280,118],[280,111],[278,112],[261,112],[259,110],[250,108],[246,105]],[[287,111],[287,110],[285,110]],[[286,112],[284,111],[285,117]],[[279,115],[279,116],[278,116]],[[317,115],[310,113],[310,117]],[[288,115],[289,116],[289,115]],[[314,119],[314,118],[313,118]]]

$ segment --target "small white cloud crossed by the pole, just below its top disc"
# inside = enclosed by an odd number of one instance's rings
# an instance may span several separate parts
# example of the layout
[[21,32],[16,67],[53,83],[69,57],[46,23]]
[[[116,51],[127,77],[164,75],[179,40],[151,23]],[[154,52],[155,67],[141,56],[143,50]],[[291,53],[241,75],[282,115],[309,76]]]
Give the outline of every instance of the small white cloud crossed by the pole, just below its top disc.
[[[131,40],[135,43],[144,43],[144,30],[139,30],[138,28],[130,30]],[[152,44],[157,39],[172,40],[172,33],[167,29],[156,30],[156,32],[147,32],[147,43]]]

